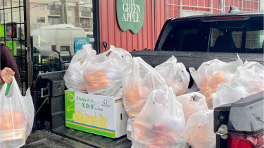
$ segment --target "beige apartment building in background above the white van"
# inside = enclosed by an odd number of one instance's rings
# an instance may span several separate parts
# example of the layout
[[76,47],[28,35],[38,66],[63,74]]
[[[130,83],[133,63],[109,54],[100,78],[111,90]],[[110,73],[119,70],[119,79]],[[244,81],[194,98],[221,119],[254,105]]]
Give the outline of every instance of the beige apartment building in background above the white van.
[[[1,8],[15,6],[23,6],[23,0],[12,0],[12,3],[10,0],[5,0],[4,3],[1,3]],[[67,14],[64,13],[63,8],[66,8]],[[12,16],[11,11],[13,13]],[[23,13],[21,8],[7,9],[5,12],[2,10],[1,23],[23,22],[23,14],[21,14],[20,18],[18,17],[19,13]],[[63,14],[67,16],[68,19],[65,22],[68,22],[68,24],[82,27],[85,32],[92,32],[92,0],[65,1],[65,3],[54,0],[32,0],[30,1],[29,13],[31,29],[60,24],[61,14]]]

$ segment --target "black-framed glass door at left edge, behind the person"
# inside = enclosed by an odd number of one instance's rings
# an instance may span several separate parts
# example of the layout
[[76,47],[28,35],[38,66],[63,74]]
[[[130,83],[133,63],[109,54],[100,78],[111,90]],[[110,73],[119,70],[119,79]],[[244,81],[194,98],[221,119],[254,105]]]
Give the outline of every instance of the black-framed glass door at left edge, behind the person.
[[1,0],[0,4],[0,41],[13,53],[25,95],[32,83],[29,0]]

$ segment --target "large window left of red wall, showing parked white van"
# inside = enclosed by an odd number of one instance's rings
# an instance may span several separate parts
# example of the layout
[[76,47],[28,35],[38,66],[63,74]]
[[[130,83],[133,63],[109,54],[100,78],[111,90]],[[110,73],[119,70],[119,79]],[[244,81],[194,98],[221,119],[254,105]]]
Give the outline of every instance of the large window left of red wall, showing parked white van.
[[33,77],[68,68],[70,54],[75,53],[75,38],[93,38],[92,10],[91,0],[30,0]]

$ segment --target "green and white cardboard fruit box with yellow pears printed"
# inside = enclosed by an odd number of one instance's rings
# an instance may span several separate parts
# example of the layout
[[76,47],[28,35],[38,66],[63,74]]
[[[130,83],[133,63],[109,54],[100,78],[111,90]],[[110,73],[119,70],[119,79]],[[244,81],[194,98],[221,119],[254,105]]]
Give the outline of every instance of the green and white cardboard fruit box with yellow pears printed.
[[69,128],[117,138],[127,134],[127,119],[122,88],[113,96],[65,90],[65,122]]

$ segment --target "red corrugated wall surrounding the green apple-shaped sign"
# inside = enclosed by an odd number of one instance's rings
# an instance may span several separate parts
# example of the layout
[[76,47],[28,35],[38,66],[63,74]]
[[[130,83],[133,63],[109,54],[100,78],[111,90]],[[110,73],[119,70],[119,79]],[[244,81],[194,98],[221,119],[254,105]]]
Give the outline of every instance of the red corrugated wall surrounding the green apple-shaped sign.
[[[100,44],[101,53],[103,41],[107,41],[108,49],[110,45],[123,48],[126,51],[134,49],[143,50],[148,48],[153,50],[155,47],[155,25],[154,25],[154,1],[145,1],[145,18],[142,30],[138,34],[133,34],[128,30],[122,32],[118,26],[115,14],[116,0],[100,0]],[[165,0],[156,0],[156,39],[161,32],[161,28],[165,22]]]

